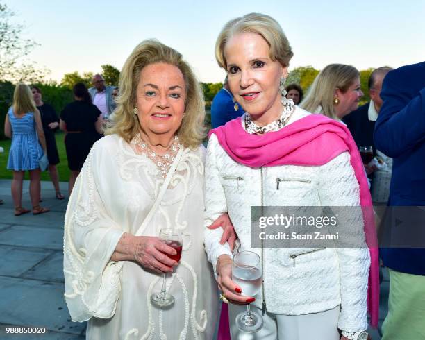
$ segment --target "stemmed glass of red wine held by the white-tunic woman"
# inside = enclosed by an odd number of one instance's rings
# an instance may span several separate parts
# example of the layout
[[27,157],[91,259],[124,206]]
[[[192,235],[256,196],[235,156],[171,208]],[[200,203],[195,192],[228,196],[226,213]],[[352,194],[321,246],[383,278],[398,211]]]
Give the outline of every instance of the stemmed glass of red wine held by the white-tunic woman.
[[[181,250],[183,249],[181,230],[173,228],[162,229],[160,231],[159,238],[160,241],[163,241],[163,243],[167,244],[167,246],[174,248],[177,252],[176,255],[166,255],[176,262],[180,261]],[[151,295],[151,303],[159,308],[169,307],[174,303],[174,296],[166,291],[166,278],[167,273],[164,273],[163,287],[161,288],[161,291]]]

